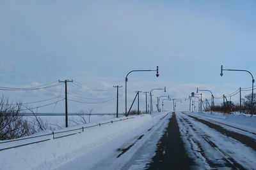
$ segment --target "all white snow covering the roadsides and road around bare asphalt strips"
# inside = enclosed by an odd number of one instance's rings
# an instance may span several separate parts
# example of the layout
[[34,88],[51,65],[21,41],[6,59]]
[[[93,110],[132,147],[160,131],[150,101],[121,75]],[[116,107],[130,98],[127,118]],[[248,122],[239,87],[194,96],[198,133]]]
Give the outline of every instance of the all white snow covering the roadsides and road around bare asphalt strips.
[[[186,151],[189,157],[195,160],[196,169],[211,169],[215,166],[218,169],[232,169],[234,161],[246,169],[255,169],[256,152],[253,148],[198,122],[189,115],[252,139],[256,139],[256,117],[239,113],[227,115],[176,112],[175,115]],[[97,126],[85,128],[84,132],[77,129],[58,134],[61,131],[81,128],[71,123],[71,127],[54,131],[55,138],[76,132],[65,138],[52,139],[52,131],[44,131],[33,136],[50,135],[1,143],[0,149],[49,139],[42,143],[0,151],[0,169],[143,169],[154,157],[157,143],[163,136],[170,117],[171,112],[134,115],[128,120],[124,120],[126,117],[113,118],[113,115],[93,115],[91,123],[83,126]],[[104,124],[120,119],[120,122]],[[60,125],[63,124],[63,117],[53,117],[51,121]],[[123,154],[125,148],[129,150]]]

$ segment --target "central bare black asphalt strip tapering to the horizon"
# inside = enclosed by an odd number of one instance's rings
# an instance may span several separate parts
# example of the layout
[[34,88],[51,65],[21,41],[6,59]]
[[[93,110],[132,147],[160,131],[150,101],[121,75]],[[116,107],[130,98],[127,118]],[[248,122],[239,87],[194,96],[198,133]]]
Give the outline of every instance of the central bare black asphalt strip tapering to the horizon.
[[164,135],[157,144],[156,155],[152,162],[147,164],[147,169],[191,169],[195,162],[188,157],[184,143],[180,138],[179,125],[175,113]]

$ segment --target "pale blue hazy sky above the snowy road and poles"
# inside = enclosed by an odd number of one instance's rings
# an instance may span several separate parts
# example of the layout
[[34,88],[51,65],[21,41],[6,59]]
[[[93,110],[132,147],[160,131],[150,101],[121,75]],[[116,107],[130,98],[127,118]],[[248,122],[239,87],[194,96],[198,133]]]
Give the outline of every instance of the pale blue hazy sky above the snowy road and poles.
[[[128,106],[135,91],[166,87],[165,93],[154,90],[154,110],[156,97],[166,95],[183,100],[177,103],[177,110],[188,110],[188,100],[184,100],[196,87],[211,90],[220,97],[239,87],[252,86],[250,74],[225,71],[221,77],[220,66],[246,69],[255,75],[255,8],[256,2],[250,0],[2,0],[0,87],[27,88],[74,80],[68,83],[68,99],[73,100],[68,101],[69,112],[115,113],[113,86],[119,85],[119,111],[124,113],[126,74],[159,66],[159,77],[155,72],[129,74]],[[64,92],[63,83],[49,89],[0,90],[13,103],[55,97],[44,103],[28,104],[29,108],[61,100]],[[242,96],[249,93],[243,92]],[[209,98],[210,93],[204,92],[205,97]],[[235,103],[238,100],[238,95],[232,97]],[[99,103],[105,101],[108,102]],[[140,101],[143,111],[145,94],[140,94]],[[64,101],[60,101],[36,111],[63,113],[64,106]],[[132,109],[136,107],[137,103]],[[170,110],[172,104],[164,101],[164,108]]]

